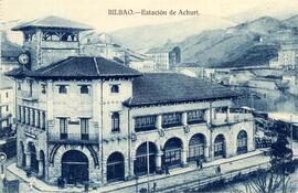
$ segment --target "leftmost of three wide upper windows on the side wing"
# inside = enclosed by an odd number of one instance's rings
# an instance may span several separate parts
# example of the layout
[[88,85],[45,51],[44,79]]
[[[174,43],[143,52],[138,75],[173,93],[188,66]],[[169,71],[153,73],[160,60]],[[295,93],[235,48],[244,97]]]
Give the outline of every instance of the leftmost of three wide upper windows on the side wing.
[[136,132],[153,129],[156,129],[156,116],[142,116],[135,119]]

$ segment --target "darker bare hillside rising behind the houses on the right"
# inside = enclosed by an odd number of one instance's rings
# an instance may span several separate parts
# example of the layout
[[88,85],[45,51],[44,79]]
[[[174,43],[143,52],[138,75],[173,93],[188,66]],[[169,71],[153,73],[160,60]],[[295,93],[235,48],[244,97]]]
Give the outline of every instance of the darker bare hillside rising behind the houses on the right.
[[183,62],[198,66],[232,67],[265,65],[277,56],[285,35],[298,15],[287,20],[262,17],[225,30],[209,30],[177,43]]

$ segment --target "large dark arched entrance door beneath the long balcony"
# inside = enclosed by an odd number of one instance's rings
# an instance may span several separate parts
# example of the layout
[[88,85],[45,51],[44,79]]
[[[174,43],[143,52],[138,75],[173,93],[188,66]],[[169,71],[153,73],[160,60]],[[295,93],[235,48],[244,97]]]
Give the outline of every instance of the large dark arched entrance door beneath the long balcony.
[[62,157],[62,178],[66,183],[76,184],[88,181],[88,158],[77,151],[70,150]]

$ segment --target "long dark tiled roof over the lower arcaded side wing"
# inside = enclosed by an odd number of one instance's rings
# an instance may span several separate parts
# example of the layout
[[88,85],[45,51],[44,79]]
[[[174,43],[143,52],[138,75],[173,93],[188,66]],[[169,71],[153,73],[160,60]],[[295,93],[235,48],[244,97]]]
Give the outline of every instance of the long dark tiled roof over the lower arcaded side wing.
[[175,73],[150,73],[132,82],[132,97],[124,105],[146,106],[169,103],[237,97],[238,93],[215,83]]

